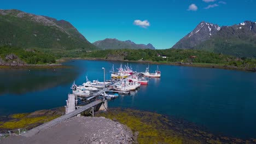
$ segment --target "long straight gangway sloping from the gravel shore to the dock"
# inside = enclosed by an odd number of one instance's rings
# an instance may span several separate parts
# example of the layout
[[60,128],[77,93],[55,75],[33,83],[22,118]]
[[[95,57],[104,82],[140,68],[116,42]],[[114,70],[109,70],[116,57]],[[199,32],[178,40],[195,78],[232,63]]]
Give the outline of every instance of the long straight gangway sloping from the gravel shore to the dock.
[[[33,135],[36,135],[37,133],[39,133],[39,131],[42,131],[44,129],[47,129],[47,128],[50,128],[50,127],[53,127],[55,124],[61,122],[61,121],[65,121],[66,119],[68,118],[71,118],[71,117],[74,117],[76,115],[78,115],[79,113],[82,113],[86,110],[89,110],[91,109],[92,107],[96,107],[97,105],[100,105],[102,104],[102,101],[101,100],[96,100],[88,105],[85,105],[85,106],[82,106],[80,107],[79,109],[77,110],[74,110],[72,112],[69,112],[67,113],[66,115],[63,115],[59,118],[56,118],[54,119],[53,121],[50,121],[50,122],[47,122],[47,123],[44,123],[42,125],[39,125],[38,127],[36,128],[33,128],[31,130],[28,130],[26,133],[23,133],[21,134],[22,136],[26,136],[26,137],[30,137],[30,136],[33,136]],[[94,109],[95,110],[95,109]]]

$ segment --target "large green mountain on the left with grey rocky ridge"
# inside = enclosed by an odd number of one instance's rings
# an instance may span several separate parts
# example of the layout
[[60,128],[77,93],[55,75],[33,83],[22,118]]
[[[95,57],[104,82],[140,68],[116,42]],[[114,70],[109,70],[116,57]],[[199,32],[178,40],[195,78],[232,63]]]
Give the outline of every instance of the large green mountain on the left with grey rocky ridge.
[[65,20],[15,9],[0,10],[0,33],[0,45],[38,47],[53,52],[97,49]]

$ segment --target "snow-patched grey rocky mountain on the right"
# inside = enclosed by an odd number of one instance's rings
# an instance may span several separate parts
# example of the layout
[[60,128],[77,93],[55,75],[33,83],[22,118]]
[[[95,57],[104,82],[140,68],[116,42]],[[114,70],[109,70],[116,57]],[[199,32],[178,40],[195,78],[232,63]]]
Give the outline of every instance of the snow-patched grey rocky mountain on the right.
[[205,50],[237,57],[256,57],[256,22],[233,26],[200,22],[172,48]]

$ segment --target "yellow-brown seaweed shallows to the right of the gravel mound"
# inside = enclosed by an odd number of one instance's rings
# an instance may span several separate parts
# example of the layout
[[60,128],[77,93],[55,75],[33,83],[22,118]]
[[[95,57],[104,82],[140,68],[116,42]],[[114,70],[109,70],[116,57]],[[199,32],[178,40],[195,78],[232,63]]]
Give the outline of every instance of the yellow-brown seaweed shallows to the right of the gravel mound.
[[97,113],[127,125],[133,133],[139,131],[138,143],[255,143],[256,140],[241,140],[216,136],[202,130],[194,123],[183,119],[160,115],[159,113],[132,109],[109,109]]

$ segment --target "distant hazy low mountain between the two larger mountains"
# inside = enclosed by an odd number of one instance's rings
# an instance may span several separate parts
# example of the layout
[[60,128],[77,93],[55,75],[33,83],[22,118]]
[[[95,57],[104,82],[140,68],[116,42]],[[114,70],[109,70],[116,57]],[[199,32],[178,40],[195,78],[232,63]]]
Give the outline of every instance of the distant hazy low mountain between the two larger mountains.
[[152,49],[155,50],[155,47],[152,44],[135,44],[131,40],[121,41],[118,39],[104,39],[98,40],[94,43],[95,46],[99,47],[102,50],[107,49]]

